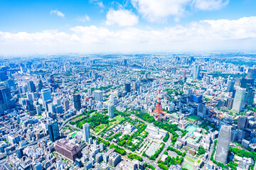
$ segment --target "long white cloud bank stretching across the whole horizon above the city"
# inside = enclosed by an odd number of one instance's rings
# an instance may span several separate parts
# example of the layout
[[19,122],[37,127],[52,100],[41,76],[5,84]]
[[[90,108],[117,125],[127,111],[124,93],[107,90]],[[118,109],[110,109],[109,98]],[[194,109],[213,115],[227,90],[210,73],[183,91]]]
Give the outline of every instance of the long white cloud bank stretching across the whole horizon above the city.
[[255,50],[256,16],[238,20],[205,20],[160,30],[76,26],[71,33],[0,31],[0,54],[53,52],[138,52]]

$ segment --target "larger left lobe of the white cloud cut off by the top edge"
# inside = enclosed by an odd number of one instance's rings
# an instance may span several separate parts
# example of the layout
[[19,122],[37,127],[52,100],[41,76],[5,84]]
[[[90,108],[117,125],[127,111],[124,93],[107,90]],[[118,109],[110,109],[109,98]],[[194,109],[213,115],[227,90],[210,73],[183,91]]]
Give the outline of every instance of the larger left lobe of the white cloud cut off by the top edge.
[[163,21],[169,16],[183,16],[191,0],[132,0],[132,5],[151,22]]

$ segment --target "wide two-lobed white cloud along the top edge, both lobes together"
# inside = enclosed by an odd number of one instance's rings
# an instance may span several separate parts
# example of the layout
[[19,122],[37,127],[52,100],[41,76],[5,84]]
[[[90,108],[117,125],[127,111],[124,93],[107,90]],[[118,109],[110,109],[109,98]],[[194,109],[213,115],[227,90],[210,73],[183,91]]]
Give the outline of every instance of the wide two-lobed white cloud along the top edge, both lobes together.
[[131,0],[134,8],[150,22],[163,22],[170,16],[174,20],[185,16],[188,7],[199,10],[218,10],[228,5],[229,0]]

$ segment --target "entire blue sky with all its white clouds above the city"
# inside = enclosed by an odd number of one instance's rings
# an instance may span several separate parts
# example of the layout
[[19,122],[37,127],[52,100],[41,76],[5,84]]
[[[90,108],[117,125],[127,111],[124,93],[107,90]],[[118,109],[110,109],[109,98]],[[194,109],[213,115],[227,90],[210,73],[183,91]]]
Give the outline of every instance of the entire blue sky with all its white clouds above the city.
[[1,0],[0,54],[255,50],[255,8],[255,0]]

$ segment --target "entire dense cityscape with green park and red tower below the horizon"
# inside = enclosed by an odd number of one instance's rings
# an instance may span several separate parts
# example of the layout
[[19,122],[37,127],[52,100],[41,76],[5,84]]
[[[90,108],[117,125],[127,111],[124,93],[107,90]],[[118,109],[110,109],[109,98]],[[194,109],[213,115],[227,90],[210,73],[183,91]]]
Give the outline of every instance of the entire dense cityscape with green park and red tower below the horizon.
[[255,169],[253,53],[1,58],[0,169]]

